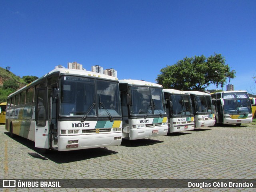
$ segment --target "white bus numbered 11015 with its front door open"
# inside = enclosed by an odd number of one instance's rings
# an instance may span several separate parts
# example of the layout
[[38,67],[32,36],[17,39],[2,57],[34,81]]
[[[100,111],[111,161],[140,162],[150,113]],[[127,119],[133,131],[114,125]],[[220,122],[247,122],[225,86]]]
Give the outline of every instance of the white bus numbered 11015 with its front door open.
[[120,145],[118,79],[55,69],[8,96],[6,130],[58,151]]

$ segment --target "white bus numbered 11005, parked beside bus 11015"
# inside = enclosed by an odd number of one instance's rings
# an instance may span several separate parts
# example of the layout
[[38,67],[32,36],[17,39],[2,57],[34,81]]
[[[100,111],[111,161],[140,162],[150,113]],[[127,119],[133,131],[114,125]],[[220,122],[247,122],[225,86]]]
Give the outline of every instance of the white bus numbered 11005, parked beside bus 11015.
[[124,139],[167,135],[167,114],[161,85],[142,80],[119,80],[119,88]]

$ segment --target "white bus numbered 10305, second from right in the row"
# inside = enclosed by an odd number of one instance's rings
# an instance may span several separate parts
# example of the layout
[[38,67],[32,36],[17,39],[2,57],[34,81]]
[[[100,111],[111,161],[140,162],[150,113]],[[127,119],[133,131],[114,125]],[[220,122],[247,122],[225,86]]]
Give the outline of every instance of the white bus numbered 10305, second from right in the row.
[[200,91],[185,91],[190,94],[195,128],[214,126],[215,115],[211,95]]

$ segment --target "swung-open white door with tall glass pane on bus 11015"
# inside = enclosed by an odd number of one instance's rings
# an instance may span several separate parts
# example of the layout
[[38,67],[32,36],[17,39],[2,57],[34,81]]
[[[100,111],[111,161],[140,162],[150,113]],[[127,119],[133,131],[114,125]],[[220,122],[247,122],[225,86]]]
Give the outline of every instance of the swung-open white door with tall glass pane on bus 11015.
[[47,112],[47,88],[36,89],[35,147],[49,148],[49,125]]

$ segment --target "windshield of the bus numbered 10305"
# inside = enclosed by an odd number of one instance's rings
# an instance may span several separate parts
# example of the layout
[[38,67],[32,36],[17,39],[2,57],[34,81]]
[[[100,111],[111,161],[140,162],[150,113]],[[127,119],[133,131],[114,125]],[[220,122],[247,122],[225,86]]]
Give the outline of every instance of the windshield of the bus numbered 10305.
[[204,95],[196,95],[195,99],[195,106],[196,106],[196,113],[212,113],[212,102],[211,96],[204,96]]

